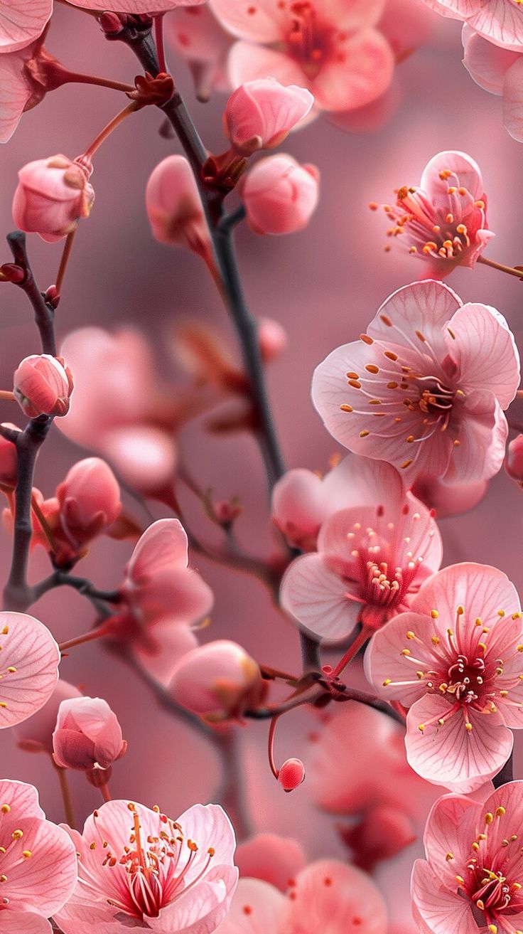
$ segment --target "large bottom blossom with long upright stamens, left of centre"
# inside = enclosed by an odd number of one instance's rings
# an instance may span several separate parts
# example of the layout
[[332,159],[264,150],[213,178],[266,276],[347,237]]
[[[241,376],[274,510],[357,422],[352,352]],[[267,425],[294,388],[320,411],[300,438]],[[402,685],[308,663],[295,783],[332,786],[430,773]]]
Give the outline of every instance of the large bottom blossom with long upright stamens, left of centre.
[[[55,914],[63,934],[212,934],[236,887],[234,831],[214,804],[196,804],[176,821],[143,804],[116,800],[69,831],[78,884]],[[103,845],[107,841],[107,846]]]

